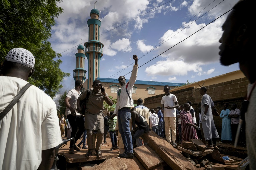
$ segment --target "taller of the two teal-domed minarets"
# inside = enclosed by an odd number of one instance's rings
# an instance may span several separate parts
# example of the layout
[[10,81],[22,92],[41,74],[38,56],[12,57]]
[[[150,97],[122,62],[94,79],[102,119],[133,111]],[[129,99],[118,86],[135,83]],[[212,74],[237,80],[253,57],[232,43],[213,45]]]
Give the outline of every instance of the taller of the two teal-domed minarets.
[[99,20],[99,14],[99,10],[94,6],[94,9],[92,9],[90,13],[91,18],[87,21],[89,40],[84,43],[84,46],[85,54],[88,59],[88,88],[92,88],[93,81],[100,76],[100,59],[103,56],[102,48],[104,45],[100,42],[101,21]]

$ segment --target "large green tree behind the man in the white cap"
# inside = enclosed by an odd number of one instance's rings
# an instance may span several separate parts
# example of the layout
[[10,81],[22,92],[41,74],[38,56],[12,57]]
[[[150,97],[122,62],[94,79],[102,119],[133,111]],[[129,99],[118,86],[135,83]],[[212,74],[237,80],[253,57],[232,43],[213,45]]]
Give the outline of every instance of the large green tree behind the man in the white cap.
[[70,73],[59,68],[61,54],[51,43],[51,27],[63,9],[62,0],[0,0],[0,62],[13,48],[25,48],[35,56],[35,72],[29,82],[51,98],[62,88],[60,82]]

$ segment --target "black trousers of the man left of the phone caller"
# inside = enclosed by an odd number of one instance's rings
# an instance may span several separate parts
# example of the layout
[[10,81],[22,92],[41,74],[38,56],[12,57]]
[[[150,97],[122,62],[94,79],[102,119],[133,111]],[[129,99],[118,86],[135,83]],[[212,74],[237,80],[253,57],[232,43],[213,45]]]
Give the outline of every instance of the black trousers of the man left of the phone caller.
[[[81,135],[84,132],[84,118],[82,116],[78,117],[78,116],[73,116],[71,114],[68,115],[67,118],[72,128],[70,138],[74,137],[74,140],[70,140],[70,145],[69,145],[69,148],[72,148],[74,147],[74,145],[76,144],[76,141],[79,139],[79,137],[81,137]],[[77,131],[78,128],[79,130]]]

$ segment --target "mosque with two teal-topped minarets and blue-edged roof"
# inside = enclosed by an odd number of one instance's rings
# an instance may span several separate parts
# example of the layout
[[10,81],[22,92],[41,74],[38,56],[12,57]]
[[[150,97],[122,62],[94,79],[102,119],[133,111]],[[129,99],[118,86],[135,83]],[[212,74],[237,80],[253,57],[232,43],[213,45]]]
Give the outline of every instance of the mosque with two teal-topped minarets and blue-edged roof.
[[[106,93],[113,98],[116,98],[116,91],[121,88],[117,79],[101,78],[100,77],[100,60],[103,56],[103,44],[100,42],[100,27],[101,21],[99,20],[100,12],[94,7],[90,12],[90,19],[87,24],[89,27],[89,40],[83,45],[79,45],[76,53],[76,69],[73,70],[74,80],[81,80],[83,82],[83,90],[92,88],[92,83],[95,79],[102,82],[106,88]],[[86,70],[84,65],[85,57],[88,60],[88,78],[86,79]],[[126,79],[126,81],[128,81]],[[146,97],[163,94],[164,86],[169,85],[170,88],[185,85],[185,83],[168,83],[168,82],[155,82],[155,81],[141,81],[136,80],[133,87],[133,102],[137,103],[137,99],[144,100]]]

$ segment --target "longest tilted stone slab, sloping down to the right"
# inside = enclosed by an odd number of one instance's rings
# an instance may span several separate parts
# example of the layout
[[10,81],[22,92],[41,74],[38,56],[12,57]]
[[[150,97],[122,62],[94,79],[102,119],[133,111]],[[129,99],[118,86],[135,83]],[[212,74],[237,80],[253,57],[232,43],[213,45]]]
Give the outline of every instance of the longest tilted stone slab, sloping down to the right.
[[175,170],[196,170],[177,149],[170,143],[158,136],[155,132],[149,131],[141,136],[147,144],[172,168]]

